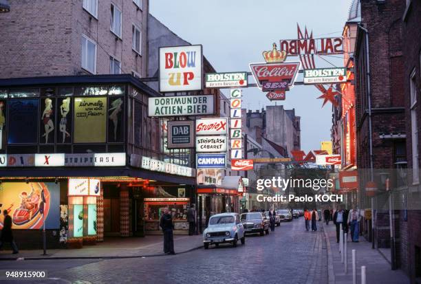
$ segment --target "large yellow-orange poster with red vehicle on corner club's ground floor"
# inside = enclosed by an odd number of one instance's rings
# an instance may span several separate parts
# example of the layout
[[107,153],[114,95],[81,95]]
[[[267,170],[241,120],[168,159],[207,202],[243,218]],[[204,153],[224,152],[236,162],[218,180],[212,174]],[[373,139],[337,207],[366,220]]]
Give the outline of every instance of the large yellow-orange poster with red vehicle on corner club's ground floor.
[[[60,227],[60,184],[54,182],[2,182],[0,184],[1,211],[8,210],[12,229]],[[3,228],[4,215],[0,216]]]

